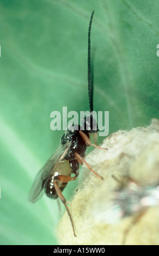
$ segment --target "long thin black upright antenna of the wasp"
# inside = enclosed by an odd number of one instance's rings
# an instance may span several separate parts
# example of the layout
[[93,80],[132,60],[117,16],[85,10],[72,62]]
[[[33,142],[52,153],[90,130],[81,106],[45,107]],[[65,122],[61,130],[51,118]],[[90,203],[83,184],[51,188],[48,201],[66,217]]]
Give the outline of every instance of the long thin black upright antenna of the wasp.
[[91,22],[93,20],[94,10],[91,13],[89,29],[88,29],[88,97],[89,97],[89,108],[90,112],[93,111],[93,76],[91,74],[91,65],[90,65],[90,31],[91,31]]

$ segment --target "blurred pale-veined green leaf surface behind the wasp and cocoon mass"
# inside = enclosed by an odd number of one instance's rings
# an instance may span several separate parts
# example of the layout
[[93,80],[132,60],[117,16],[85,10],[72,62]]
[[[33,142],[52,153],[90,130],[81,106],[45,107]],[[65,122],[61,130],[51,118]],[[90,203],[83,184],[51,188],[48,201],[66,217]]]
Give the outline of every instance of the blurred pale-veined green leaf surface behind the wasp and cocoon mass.
[[[93,9],[94,110],[109,111],[109,134],[158,118],[157,0],[1,0],[1,245],[58,244],[57,201],[31,204],[28,192],[63,134],[51,131],[50,113],[89,110]],[[77,182],[66,187],[66,199]]]

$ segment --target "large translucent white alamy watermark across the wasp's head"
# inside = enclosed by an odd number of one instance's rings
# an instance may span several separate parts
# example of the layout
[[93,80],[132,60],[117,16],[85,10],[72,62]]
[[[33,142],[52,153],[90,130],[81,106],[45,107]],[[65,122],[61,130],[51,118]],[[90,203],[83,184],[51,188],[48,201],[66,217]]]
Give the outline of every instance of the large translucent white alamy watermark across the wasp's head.
[[[93,118],[95,122],[93,123],[93,130],[97,130],[97,125],[100,130],[99,136],[107,136],[109,133],[109,111],[80,111],[80,114],[78,116],[78,113],[76,111],[70,111],[68,112],[67,107],[63,107],[62,115],[59,111],[52,111],[50,114],[50,117],[53,118],[53,120],[50,123],[50,128],[52,131],[55,130],[72,130],[77,129],[77,126],[74,126],[74,124],[79,124],[81,126],[81,130],[83,130],[83,120],[84,117],[86,117],[86,120],[90,120],[90,115],[93,115]],[[68,118],[70,120],[68,121]],[[90,123],[90,121],[89,121]],[[87,128],[87,125],[86,125]],[[89,130],[89,129],[88,129]]]

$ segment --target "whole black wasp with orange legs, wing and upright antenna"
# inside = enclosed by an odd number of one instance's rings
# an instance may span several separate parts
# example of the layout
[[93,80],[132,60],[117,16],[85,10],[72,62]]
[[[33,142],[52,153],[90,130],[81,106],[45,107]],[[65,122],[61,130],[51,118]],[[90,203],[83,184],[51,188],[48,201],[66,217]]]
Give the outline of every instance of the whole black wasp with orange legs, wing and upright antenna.
[[[93,111],[93,81],[91,80],[90,69],[90,30],[93,14],[94,11],[91,14],[88,32],[88,94],[90,112]],[[32,203],[38,201],[44,193],[50,198],[56,199],[59,197],[68,212],[75,236],[74,222],[62,191],[69,181],[77,179],[79,163],[84,163],[91,172],[103,179],[99,174],[95,173],[83,159],[87,147],[93,145],[93,147],[99,148],[92,144],[89,139],[89,134],[97,133],[97,131],[99,131],[99,129],[92,115],[88,118],[83,118],[83,128],[77,124],[75,124],[71,130],[68,128],[62,136],[59,147],[55,153],[48,159],[45,166],[36,175],[34,184],[29,193],[29,200]]]

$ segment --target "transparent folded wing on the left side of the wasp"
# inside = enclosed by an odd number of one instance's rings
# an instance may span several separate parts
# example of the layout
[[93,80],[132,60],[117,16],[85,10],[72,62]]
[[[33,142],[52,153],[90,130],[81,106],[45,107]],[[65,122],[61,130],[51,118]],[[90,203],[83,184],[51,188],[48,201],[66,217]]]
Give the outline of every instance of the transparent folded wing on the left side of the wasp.
[[64,145],[60,143],[57,150],[50,157],[50,159],[48,159],[45,166],[42,167],[42,169],[36,175],[33,186],[29,192],[30,202],[35,203],[43,196],[43,194],[45,193],[44,188],[48,179],[53,174],[53,171],[56,169],[60,161],[62,161],[65,155],[68,153],[70,145],[71,144],[69,142],[65,143]]

